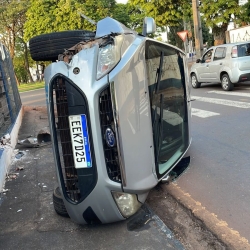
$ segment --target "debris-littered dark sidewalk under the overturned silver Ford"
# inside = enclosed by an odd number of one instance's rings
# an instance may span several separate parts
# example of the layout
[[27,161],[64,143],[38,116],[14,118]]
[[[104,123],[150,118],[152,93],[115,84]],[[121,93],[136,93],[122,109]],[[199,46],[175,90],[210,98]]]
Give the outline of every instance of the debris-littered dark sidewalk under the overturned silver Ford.
[[[45,107],[24,107],[19,140],[36,137],[48,127]],[[57,215],[52,193],[57,186],[51,144],[19,147],[0,193],[0,249],[175,249],[183,250],[171,231],[149,208],[129,220],[80,226]]]

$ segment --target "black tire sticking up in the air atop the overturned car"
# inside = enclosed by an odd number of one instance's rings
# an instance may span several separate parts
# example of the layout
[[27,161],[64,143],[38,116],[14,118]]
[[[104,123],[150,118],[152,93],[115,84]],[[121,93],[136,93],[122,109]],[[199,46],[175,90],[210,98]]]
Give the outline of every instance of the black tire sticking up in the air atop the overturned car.
[[81,41],[95,37],[95,32],[69,30],[35,36],[29,41],[30,54],[35,61],[56,61],[58,55]]

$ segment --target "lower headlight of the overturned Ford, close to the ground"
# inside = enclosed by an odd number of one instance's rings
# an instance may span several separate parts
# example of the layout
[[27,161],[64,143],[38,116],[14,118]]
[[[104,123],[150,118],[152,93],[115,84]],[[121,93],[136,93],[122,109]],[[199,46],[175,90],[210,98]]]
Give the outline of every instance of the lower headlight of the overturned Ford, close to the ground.
[[128,218],[131,215],[135,214],[142,205],[137,200],[137,196],[135,194],[112,191],[112,195],[122,216],[124,216],[125,218]]

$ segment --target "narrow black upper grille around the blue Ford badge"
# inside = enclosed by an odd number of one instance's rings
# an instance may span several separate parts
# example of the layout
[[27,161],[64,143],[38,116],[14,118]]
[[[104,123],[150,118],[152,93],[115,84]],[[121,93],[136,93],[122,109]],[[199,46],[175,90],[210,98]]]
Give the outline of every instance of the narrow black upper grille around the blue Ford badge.
[[[107,173],[112,181],[121,183],[121,171],[118,158],[117,145],[110,147],[107,145],[105,132],[108,128],[115,133],[115,124],[113,117],[112,101],[110,94],[110,87],[101,92],[99,97],[99,112],[100,125],[103,136],[104,157],[107,167]],[[117,138],[117,136],[115,136]]]

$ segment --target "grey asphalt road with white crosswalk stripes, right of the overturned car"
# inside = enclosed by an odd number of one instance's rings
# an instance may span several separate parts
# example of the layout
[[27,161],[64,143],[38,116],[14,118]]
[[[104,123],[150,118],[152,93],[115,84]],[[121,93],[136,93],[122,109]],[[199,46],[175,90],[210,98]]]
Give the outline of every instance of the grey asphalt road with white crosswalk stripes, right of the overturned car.
[[250,242],[250,83],[203,84],[191,96],[191,165],[177,185]]

